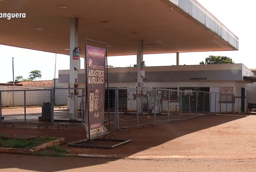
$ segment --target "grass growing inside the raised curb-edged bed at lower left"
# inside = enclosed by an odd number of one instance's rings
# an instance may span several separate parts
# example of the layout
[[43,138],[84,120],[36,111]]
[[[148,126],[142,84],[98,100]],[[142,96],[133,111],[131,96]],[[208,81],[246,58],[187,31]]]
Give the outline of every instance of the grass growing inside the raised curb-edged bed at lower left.
[[39,146],[43,143],[46,143],[48,141],[52,141],[57,139],[56,137],[35,137],[33,139],[15,139],[15,138],[5,138],[1,137],[0,140],[2,141],[1,147],[4,148],[24,148],[24,149],[31,149],[35,146]]

